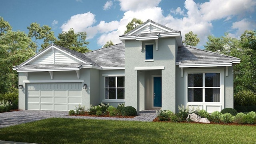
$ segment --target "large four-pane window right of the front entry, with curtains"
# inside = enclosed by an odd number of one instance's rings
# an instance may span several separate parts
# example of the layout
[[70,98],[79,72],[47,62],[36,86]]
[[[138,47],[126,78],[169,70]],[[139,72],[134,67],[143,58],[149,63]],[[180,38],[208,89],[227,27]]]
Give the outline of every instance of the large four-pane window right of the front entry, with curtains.
[[188,102],[220,102],[220,73],[188,74]]

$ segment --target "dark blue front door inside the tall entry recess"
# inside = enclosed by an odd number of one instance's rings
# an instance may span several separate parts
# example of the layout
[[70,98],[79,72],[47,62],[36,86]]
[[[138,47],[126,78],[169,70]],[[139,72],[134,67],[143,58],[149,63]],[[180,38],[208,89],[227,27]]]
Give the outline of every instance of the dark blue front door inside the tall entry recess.
[[162,106],[162,77],[154,77],[154,106]]

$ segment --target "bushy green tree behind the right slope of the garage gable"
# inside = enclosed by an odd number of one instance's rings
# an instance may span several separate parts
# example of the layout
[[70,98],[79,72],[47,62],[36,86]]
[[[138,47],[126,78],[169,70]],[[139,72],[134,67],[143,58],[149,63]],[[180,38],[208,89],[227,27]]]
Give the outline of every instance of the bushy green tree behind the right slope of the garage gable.
[[89,42],[86,42],[86,32],[76,34],[71,28],[68,32],[62,31],[58,34],[58,38],[59,40],[56,40],[55,44],[81,53],[90,51],[86,46],[89,44]]

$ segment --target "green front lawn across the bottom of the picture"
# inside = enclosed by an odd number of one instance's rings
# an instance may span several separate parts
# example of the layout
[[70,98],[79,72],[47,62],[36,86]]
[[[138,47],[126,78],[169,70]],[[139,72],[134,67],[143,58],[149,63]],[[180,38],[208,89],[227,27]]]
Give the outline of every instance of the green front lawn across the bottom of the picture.
[[71,118],[0,128],[0,140],[49,144],[255,144],[255,136],[255,126]]

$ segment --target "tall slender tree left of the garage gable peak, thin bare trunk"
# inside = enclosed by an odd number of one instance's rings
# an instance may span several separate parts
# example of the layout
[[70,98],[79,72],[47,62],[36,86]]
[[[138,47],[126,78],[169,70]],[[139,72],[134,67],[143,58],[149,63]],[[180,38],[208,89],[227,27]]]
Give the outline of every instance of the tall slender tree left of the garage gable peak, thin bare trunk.
[[35,41],[34,41],[34,44],[32,44],[33,46],[35,46],[35,51],[37,53],[37,42],[36,40],[37,39],[40,39],[40,31],[41,31],[41,27],[40,27],[40,24],[36,23],[36,22],[33,22],[30,24],[30,26],[27,27],[29,32],[28,32],[28,36],[33,38],[35,37]]

